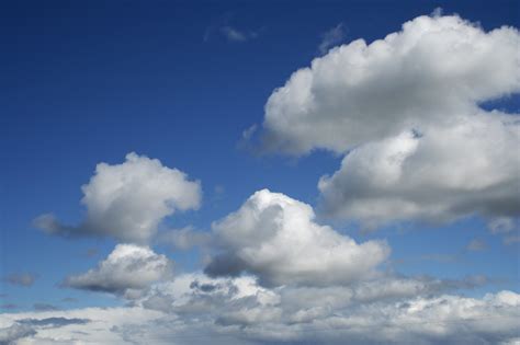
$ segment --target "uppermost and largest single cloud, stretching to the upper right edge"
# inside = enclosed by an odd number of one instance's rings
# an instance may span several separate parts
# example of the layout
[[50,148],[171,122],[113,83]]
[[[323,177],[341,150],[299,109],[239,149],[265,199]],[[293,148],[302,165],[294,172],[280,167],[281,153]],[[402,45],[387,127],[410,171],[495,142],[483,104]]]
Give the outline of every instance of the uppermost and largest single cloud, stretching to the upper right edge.
[[520,35],[461,18],[419,16],[370,45],[334,48],[293,73],[265,105],[264,143],[346,152],[406,128],[449,125],[476,103],[520,90]]

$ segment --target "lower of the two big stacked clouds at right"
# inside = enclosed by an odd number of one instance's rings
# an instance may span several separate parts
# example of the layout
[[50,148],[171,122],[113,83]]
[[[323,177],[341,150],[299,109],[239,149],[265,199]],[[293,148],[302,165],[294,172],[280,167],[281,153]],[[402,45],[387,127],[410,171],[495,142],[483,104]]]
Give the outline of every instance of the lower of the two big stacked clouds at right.
[[370,142],[321,177],[321,209],[376,225],[519,216],[519,145],[520,126],[498,113]]

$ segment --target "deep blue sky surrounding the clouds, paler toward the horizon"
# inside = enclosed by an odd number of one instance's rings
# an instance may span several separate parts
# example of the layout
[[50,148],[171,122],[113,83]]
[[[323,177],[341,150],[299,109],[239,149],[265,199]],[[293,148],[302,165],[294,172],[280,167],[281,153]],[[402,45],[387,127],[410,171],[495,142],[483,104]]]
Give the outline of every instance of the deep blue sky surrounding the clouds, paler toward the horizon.
[[[54,237],[33,221],[52,212],[64,223],[79,223],[86,215],[81,186],[95,165],[121,164],[128,152],[159,159],[202,185],[200,208],[163,219],[159,232],[191,226],[210,233],[212,222],[269,188],[312,205],[320,223],[358,242],[386,240],[392,254],[382,271],[487,277],[462,296],[520,292],[518,242],[505,244],[478,212],[363,232],[358,220],[318,211],[318,180],[334,174],[343,154],[319,147],[299,156],[257,154],[242,140],[252,125],[261,127],[273,91],[324,55],[327,32],[341,24],[331,46],[360,37],[371,43],[436,8],[478,22],[486,32],[520,24],[515,1],[2,3],[1,312],[27,312],[37,303],[60,310],[125,304],[109,294],[60,285],[104,260],[116,240]],[[485,107],[518,114],[518,94]],[[484,249],[468,250],[474,240]],[[176,262],[176,273],[204,268],[202,250],[172,251],[163,243],[154,250]],[[33,284],[9,281],[25,273]]]

